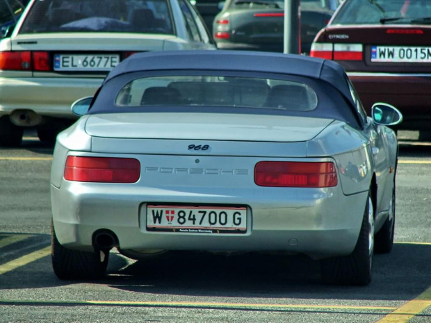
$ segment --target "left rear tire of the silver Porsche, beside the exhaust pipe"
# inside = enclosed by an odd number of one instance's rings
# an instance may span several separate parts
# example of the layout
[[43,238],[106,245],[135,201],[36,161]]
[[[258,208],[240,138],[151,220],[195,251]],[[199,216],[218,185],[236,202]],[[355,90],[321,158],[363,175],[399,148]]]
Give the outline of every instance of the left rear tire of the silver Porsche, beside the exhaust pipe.
[[51,259],[54,273],[59,279],[99,279],[108,266],[109,251],[104,252],[101,261],[99,252],[67,249],[60,245],[51,225]]

